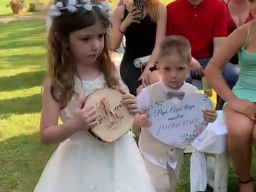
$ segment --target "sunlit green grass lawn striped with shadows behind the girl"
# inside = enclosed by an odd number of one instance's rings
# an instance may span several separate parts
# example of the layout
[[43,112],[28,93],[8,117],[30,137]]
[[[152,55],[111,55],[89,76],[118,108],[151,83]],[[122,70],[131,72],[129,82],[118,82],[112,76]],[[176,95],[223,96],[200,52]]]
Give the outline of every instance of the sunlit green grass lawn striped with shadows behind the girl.
[[[44,20],[0,23],[0,192],[33,191],[56,148],[41,144],[38,128],[45,38]],[[189,192],[189,160],[186,156],[177,192]],[[230,168],[228,192],[237,189]]]

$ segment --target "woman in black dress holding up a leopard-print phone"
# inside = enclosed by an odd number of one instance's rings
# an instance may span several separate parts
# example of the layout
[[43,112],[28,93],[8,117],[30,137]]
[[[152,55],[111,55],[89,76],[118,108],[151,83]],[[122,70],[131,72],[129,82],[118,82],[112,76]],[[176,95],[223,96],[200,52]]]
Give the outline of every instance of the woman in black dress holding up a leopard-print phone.
[[[140,7],[135,6],[137,4],[140,4]],[[126,46],[120,75],[131,94],[135,96],[141,84],[151,84],[154,76],[158,76],[158,72],[150,72],[150,68],[156,63],[159,44],[165,36],[166,15],[166,7],[159,0],[136,0],[136,3],[126,0],[124,6],[119,6],[114,11],[111,48],[116,50],[125,36]],[[134,66],[136,58],[148,55],[151,55],[150,60],[143,70]]]

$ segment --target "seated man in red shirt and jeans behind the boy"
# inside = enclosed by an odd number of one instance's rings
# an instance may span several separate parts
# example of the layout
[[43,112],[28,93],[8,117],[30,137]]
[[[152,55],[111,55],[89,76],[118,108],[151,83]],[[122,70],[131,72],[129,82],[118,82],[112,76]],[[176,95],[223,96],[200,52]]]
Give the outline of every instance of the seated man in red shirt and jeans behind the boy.
[[[176,0],[166,8],[166,35],[184,36],[191,44],[193,70],[186,80],[191,83],[192,78],[203,76],[203,69],[227,36],[226,5],[220,0]],[[233,88],[238,80],[235,66],[228,63],[223,75]]]

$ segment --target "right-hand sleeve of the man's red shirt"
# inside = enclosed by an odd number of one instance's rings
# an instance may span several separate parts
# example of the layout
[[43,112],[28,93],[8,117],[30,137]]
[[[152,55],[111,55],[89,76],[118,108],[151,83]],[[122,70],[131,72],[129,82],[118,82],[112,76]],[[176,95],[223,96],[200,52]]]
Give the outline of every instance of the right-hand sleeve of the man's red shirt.
[[228,10],[224,3],[220,2],[219,10],[216,14],[216,20],[214,25],[214,37],[226,37],[228,35],[227,25],[228,25]]

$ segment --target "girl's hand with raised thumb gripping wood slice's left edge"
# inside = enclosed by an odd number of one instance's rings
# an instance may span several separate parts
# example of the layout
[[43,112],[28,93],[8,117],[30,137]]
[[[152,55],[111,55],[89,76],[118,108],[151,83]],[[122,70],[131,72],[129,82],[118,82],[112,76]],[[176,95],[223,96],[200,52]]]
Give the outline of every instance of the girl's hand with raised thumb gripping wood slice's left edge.
[[97,114],[94,107],[84,107],[84,99],[79,98],[77,109],[72,118],[76,130],[89,130],[97,125]]

